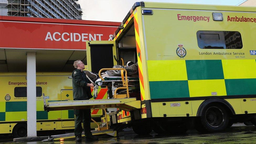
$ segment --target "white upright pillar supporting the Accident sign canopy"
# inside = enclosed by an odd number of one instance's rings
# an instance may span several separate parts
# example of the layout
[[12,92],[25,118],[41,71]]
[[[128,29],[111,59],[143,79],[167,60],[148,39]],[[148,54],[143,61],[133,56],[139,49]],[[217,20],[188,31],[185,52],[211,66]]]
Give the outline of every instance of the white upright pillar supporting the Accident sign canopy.
[[36,136],[36,53],[27,53],[27,128],[28,137]]

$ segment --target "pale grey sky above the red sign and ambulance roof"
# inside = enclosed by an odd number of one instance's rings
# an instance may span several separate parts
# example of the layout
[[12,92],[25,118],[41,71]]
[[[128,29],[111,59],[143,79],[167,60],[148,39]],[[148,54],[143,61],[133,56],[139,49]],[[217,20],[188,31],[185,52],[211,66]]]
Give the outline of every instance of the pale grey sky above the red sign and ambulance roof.
[[[142,1],[142,0],[141,0]],[[236,6],[245,0],[146,0],[147,2],[193,3]],[[145,2],[146,2],[145,1]],[[121,22],[138,0],[79,0],[84,20]]]

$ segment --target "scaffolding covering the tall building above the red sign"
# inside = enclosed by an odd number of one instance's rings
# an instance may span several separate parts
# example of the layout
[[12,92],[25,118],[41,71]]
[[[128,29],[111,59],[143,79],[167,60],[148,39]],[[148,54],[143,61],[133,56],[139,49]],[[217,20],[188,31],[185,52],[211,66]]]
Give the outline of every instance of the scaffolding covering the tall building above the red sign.
[[78,0],[8,0],[8,15],[58,19],[82,19]]

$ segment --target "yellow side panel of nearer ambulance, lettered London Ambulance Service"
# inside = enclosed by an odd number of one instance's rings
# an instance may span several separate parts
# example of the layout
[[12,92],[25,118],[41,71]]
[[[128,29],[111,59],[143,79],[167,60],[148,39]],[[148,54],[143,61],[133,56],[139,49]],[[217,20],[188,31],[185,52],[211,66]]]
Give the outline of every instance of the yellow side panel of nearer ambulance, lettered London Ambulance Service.
[[[183,107],[189,100],[192,105],[185,105],[190,107],[189,111],[174,110],[177,113],[165,114],[196,116],[199,105],[207,98],[226,99],[236,114],[254,113],[256,101],[251,97],[256,94],[256,56],[252,35],[256,32],[256,24],[234,22],[234,18],[255,18],[256,13],[142,9],[153,10],[153,15],[142,15],[153,117],[163,116],[163,102],[168,102],[168,108],[173,109]],[[213,12],[222,13],[223,21],[214,21]],[[234,35],[225,35],[222,42],[227,45],[238,39],[240,41],[234,43],[238,49],[232,45],[231,49],[201,47],[200,34],[213,34],[214,31],[224,35],[235,31]],[[248,97],[251,99],[245,104],[243,98]]]

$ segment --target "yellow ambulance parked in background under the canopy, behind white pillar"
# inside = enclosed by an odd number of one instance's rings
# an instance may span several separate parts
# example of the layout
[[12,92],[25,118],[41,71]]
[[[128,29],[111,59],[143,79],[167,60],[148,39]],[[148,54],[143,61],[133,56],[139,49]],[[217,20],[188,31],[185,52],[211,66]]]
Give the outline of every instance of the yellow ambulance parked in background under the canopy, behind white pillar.
[[[26,73],[0,73],[0,134],[25,137],[27,134]],[[44,111],[43,94],[47,102],[73,100],[71,73],[36,73],[37,131],[74,129],[73,110]],[[98,98],[106,98],[101,90]],[[102,111],[92,110],[92,117],[100,124]],[[92,128],[98,127],[94,122]]]

